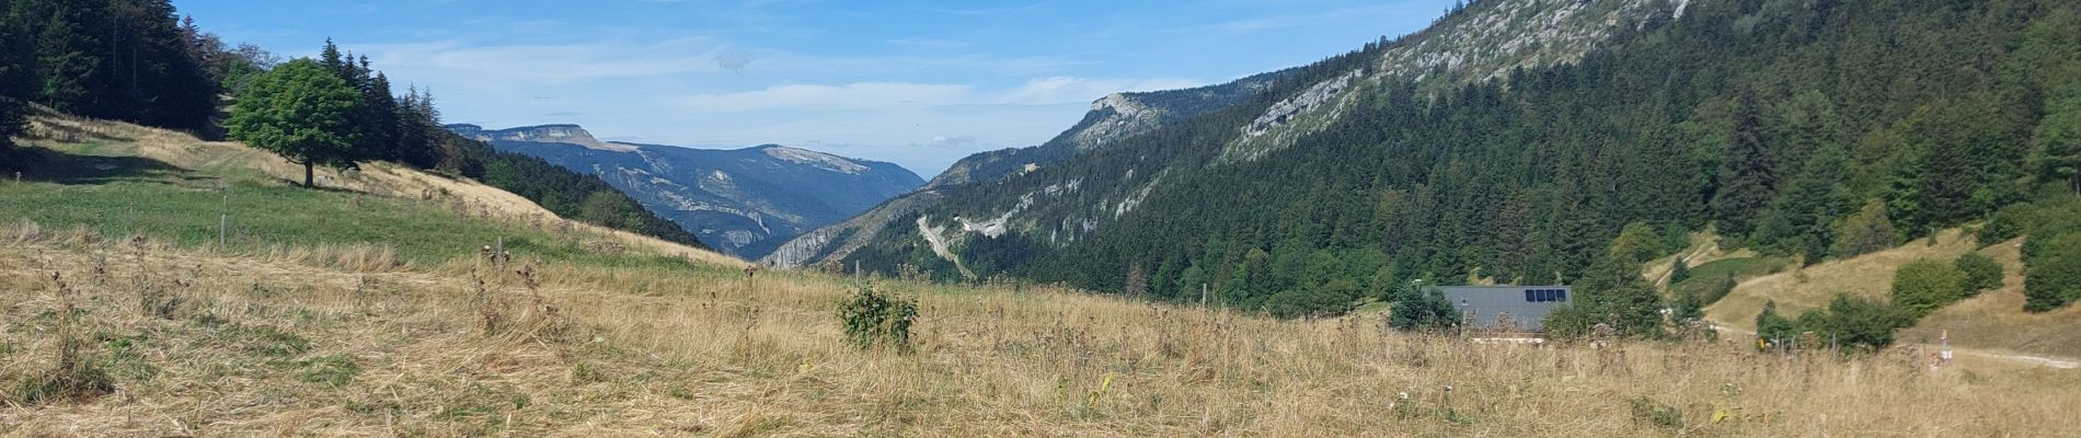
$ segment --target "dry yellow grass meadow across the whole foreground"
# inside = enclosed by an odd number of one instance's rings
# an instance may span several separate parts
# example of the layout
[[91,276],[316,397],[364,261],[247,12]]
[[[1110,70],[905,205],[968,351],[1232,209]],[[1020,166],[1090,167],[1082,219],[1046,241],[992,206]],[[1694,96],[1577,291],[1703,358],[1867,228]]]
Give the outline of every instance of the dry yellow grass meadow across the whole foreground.
[[[25,224],[0,241],[0,384],[50,365],[50,272],[117,380],[0,407],[21,436],[2073,436],[2081,409],[2075,372],[2012,363],[1467,345],[1378,318],[884,280],[922,305],[918,351],[897,355],[847,347],[830,309],[849,282],[814,274],[410,270]],[[144,313],[137,284],[183,305]],[[487,332],[493,307],[506,324]],[[360,372],[329,380],[335,361]]]

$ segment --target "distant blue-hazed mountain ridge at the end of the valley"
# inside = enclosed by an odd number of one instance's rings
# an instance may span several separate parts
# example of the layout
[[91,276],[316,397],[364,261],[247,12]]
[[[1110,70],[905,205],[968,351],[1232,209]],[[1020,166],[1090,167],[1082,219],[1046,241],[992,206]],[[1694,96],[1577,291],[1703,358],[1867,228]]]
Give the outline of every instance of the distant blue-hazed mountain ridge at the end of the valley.
[[499,152],[597,174],[710,247],[751,259],[805,230],[924,185],[924,179],[897,164],[787,145],[693,149],[620,143],[599,141],[579,125],[447,129]]

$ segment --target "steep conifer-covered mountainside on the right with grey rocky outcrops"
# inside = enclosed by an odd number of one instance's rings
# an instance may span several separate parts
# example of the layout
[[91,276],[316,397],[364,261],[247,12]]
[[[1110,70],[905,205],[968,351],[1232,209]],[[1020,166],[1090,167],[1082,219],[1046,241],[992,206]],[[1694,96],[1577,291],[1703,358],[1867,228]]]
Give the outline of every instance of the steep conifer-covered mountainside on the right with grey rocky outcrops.
[[1475,2],[1242,104],[941,187],[824,264],[1209,284],[1299,316],[1411,278],[1571,282],[1627,224],[1856,255],[2075,187],[2077,31],[2075,4],[2035,0]]

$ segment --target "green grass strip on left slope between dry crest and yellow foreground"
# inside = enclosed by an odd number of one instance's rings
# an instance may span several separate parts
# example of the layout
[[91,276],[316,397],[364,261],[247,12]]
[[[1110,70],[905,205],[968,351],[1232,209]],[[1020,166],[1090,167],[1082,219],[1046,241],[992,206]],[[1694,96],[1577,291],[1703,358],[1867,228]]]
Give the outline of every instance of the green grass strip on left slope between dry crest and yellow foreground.
[[433,266],[477,257],[506,239],[516,259],[539,257],[614,268],[701,268],[653,253],[597,253],[579,237],[524,224],[472,218],[447,203],[302,189],[256,170],[183,170],[131,156],[92,156],[75,145],[42,154],[29,183],[0,183],[0,220],[31,220],[44,228],[85,226],[102,237],[148,235],[185,247],[216,247],[227,218],[225,251],[279,247],[377,245],[400,262]]

